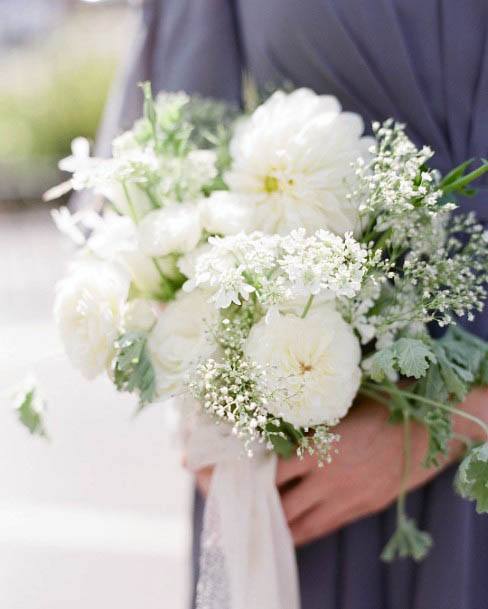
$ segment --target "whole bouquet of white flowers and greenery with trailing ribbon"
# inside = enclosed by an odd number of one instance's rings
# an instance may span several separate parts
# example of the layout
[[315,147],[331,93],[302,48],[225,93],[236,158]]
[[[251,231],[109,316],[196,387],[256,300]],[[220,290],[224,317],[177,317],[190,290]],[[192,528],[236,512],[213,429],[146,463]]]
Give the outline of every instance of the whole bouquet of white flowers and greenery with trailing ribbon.
[[[488,163],[442,177],[402,125],[374,124],[365,137],[359,116],[307,89],[245,113],[143,90],[144,117],[114,140],[112,158],[91,158],[76,140],[61,164],[73,173],[65,186],[93,189],[109,210],[54,212],[83,246],[58,286],[56,320],[86,377],[107,372],[141,406],[191,405],[190,464],[217,465],[199,606],[222,597],[226,607],[293,608],[270,455],[330,463],[335,426],[363,394],[405,426],[407,455],[410,422],[425,425],[425,464],[440,466],[453,415],[466,416],[456,403],[488,384],[488,344],[454,325],[483,308],[488,231],[453,213]],[[449,328],[434,339],[431,323]],[[467,447],[456,487],[488,511],[488,443]],[[385,560],[418,560],[431,545],[404,495]],[[274,567],[263,543],[277,549]],[[216,586],[222,571],[227,584]]]

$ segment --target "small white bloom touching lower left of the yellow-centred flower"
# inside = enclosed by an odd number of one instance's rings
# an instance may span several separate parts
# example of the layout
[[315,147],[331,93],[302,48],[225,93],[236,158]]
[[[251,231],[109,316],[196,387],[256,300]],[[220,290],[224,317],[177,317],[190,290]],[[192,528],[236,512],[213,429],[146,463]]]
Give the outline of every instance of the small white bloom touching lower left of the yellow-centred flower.
[[252,206],[225,190],[202,199],[199,207],[203,228],[209,233],[236,235],[251,225]]

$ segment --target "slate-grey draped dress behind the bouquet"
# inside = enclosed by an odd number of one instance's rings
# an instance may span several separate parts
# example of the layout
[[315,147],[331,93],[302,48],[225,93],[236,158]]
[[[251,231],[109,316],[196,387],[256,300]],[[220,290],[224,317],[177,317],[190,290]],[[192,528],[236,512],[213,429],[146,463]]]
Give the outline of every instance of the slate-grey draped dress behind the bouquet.
[[[487,32],[488,0],[148,1],[102,147],[140,112],[138,81],[238,102],[245,68],[261,85],[336,95],[368,122],[406,122],[446,170],[488,155]],[[487,221],[488,191],[463,207]],[[486,314],[470,327],[488,338]],[[364,518],[298,551],[303,609],[488,609],[488,517],[454,494],[453,471],[409,497],[435,540],[424,562],[382,563],[394,511]],[[201,513],[197,497],[195,556]]]

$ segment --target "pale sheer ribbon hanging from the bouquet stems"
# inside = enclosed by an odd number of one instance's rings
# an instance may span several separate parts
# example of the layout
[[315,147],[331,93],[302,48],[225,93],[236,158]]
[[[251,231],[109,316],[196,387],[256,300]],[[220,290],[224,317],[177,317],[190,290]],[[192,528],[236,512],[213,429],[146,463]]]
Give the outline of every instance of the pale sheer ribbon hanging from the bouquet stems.
[[187,438],[193,471],[214,466],[203,520],[197,609],[300,609],[290,530],[275,484],[276,456],[252,458],[228,428],[199,416]]

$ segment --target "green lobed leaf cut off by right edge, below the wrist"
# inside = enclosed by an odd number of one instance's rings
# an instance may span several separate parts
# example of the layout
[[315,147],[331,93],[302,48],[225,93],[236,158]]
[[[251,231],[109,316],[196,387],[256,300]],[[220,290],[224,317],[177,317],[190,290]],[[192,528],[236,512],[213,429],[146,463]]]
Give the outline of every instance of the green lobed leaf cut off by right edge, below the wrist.
[[459,466],[454,486],[461,497],[476,501],[478,514],[488,512],[488,442],[468,452]]

